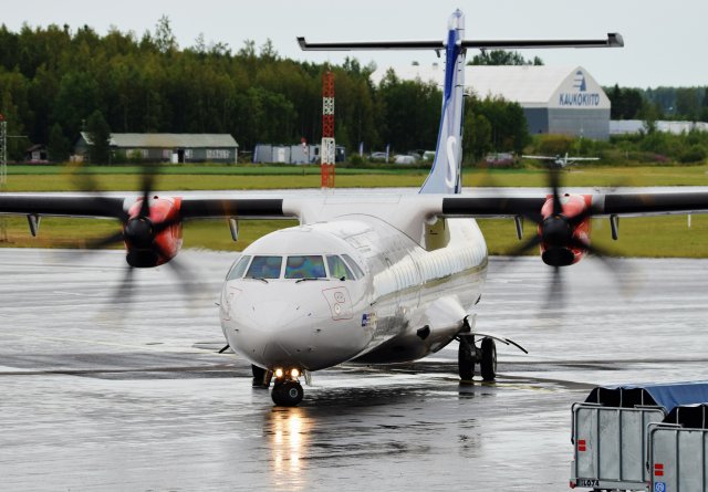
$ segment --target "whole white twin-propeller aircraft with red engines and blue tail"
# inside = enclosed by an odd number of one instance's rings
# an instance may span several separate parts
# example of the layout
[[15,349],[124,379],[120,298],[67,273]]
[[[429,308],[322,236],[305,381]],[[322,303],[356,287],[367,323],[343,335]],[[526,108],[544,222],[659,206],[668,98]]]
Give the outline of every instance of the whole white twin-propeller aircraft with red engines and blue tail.
[[[190,199],[42,193],[0,196],[0,212],[27,214],[32,233],[40,216],[108,217],[121,230],[97,242],[124,242],[128,264],[169,262],[181,245],[184,220],[225,217],[298,218],[299,227],[253,242],[227,274],[220,318],[228,345],[253,367],[254,384],[270,386],[277,405],[298,405],[299,378],[344,362],[415,360],[459,341],[459,375],[483,379],[497,369],[494,341],[478,331],[475,305],[487,272],[480,217],[522,218],[538,234],[520,250],[539,248],[554,268],[595,252],[590,220],[621,214],[708,210],[708,193],[550,195],[538,198],[462,196],[460,180],[464,69],[467,49],[622,46],[618,34],[600,41],[467,41],[464,15],[452,13],[444,41],[311,44],[304,50],[419,49],[445,52],[442,116],[433,169],[418,195]],[[554,175],[551,175],[554,176]],[[514,344],[516,345],[516,344]]]

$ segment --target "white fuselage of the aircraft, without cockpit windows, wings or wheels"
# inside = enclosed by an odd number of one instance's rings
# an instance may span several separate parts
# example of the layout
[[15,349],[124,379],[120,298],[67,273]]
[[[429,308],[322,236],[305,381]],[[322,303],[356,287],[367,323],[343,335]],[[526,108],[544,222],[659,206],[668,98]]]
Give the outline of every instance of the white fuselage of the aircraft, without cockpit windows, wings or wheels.
[[306,370],[346,360],[414,360],[439,350],[479,300],[487,271],[487,247],[473,220],[440,226],[445,238],[430,251],[420,244],[425,237],[414,240],[368,213],[261,238],[242,257],[282,257],[284,271],[291,255],[341,255],[363,274],[227,280],[220,317],[229,345],[257,366]]

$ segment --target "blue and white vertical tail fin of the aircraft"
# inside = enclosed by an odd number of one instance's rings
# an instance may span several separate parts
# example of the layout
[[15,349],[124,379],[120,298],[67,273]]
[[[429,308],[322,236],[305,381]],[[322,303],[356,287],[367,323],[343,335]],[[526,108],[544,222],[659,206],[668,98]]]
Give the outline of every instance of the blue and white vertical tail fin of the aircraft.
[[456,10],[448,22],[445,46],[442,116],[430,174],[421,193],[459,193],[462,190],[462,112],[465,96],[465,14]]

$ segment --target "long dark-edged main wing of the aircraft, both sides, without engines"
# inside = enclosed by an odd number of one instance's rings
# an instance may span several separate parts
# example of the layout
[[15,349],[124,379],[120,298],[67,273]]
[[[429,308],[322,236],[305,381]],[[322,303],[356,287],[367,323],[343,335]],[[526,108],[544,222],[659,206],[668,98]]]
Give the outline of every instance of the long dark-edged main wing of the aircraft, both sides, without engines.
[[[344,197],[342,197],[344,198]],[[356,202],[366,199],[357,196]],[[433,198],[433,197],[430,197]],[[137,201],[135,195],[102,197],[90,193],[1,193],[0,214],[58,216],[86,218],[115,218],[125,220],[127,210]],[[549,199],[538,196],[476,197],[471,195],[442,195],[435,203],[418,195],[406,196],[415,207],[417,201],[430,216],[504,218],[538,214]],[[296,200],[271,196],[244,196],[242,198],[181,198],[179,217],[189,219],[241,218],[241,219],[290,219],[300,217],[308,203],[324,206],[320,196],[299,197]],[[342,200],[344,205],[346,200]],[[605,216],[656,216],[669,213],[708,212],[708,192],[632,192],[592,193],[593,217]]]

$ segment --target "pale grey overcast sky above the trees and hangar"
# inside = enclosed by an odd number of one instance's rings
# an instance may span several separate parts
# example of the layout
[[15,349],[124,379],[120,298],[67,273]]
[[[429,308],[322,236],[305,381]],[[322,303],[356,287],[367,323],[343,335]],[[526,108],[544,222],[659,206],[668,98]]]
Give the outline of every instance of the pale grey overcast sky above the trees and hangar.
[[[708,0],[23,0],[3,9],[1,22],[19,30],[87,24],[105,34],[114,25],[142,35],[167,15],[181,48],[225,42],[233,51],[243,40],[260,46],[268,38],[287,57],[341,63],[344,54],[301,52],[295,36],[309,41],[442,39],[447,18],[460,8],[467,39],[604,38],[620,32],[621,50],[528,51],[548,65],[584,66],[602,85],[656,87],[708,85]],[[378,66],[436,62],[434,52],[358,52]],[[470,53],[468,56],[473,55]]]

